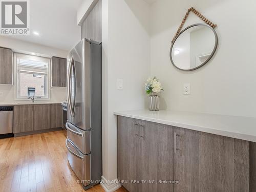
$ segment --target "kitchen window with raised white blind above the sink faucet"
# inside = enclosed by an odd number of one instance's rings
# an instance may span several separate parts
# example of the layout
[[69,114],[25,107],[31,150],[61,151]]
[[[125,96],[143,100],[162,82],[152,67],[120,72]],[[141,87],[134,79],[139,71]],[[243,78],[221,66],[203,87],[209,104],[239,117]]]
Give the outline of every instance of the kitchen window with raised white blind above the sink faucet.
[[15,53],[16,98],[49,99],[50,58]]

